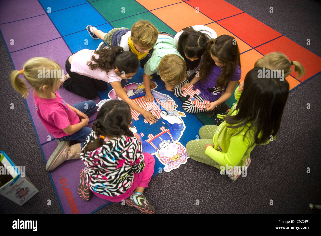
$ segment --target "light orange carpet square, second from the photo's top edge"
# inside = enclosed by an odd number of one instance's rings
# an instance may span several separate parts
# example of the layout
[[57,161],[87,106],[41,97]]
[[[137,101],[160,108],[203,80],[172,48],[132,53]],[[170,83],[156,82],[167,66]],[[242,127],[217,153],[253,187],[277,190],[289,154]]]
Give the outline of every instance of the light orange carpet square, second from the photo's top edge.
[[193,25],[204,25],[213,22],[202,13],[197,13],[195,8],[186,3],[178,3],[151,11],[176,32]]

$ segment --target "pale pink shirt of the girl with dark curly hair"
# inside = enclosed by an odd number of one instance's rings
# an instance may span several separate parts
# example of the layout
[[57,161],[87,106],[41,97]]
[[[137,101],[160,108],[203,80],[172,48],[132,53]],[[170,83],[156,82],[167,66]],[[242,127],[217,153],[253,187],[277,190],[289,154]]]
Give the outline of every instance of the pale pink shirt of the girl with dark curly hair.
[[76,72],[77,74],[86,75],[90,78],[102,80],[107,83],[121,81],[122,78],[116,74],[116,72],[111,69],[106,75],[106,71],[101,71],[99,68],[91,70],[87,66],[87,62],[91,61],[91,57],[95,56],[98,58],[98,55],[94,53],[95,50],[82,49],[76,54],[74,54],[73,59],[71,60],[71,72]]

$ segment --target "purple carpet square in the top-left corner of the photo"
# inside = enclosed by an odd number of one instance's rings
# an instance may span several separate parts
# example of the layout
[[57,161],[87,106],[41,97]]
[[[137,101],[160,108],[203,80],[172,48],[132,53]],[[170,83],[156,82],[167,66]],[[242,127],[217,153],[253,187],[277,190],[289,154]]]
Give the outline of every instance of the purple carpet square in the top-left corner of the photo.
[[46,14],[37,0],[0,1],[0,24]]

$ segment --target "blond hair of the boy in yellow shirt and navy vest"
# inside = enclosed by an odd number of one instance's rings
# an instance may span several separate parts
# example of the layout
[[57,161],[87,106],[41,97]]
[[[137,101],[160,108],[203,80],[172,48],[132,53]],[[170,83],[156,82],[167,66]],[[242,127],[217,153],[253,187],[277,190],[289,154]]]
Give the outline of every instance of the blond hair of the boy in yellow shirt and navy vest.
[[131,29],[132,41],[142,49],[151,49],[158,38],[158,29],[149,21],[140,20]]

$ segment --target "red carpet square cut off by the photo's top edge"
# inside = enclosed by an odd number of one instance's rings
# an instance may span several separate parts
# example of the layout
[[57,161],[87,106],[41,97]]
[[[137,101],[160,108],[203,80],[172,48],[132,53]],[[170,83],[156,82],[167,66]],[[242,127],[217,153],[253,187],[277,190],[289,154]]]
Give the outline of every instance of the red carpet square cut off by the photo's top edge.
[[214,21],[218,21],[243,12],[239,8],[229,4],[228,2],[225,2],[224,0],[190,0],[186,3],[194,8],[198,7],[198,10],[201,13],[204,13]]

